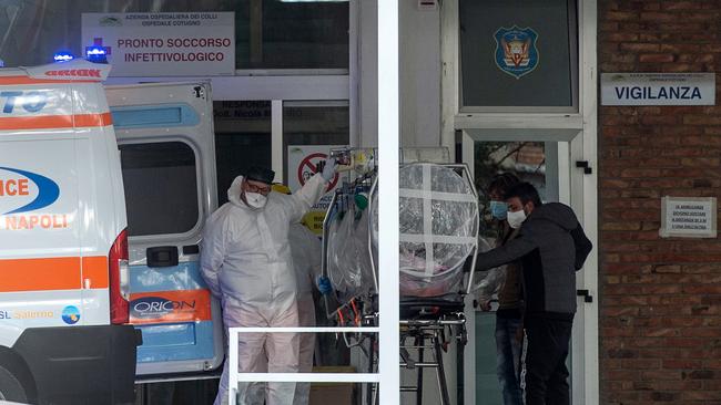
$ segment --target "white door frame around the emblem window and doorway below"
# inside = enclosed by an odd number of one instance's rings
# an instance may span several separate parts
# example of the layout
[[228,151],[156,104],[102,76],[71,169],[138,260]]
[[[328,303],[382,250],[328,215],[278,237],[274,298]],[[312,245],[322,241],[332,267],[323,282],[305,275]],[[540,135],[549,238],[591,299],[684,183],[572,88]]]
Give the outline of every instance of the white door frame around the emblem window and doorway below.
[[[588,238],[596,249],[583,270],[577,274],[577,288],[588,290],[593,301],[579,304],[572,341],[572,403],[599,404],[599,294],[598,294],[598,91],[597,91],[597,0],[577,0],[578,21],[578,112],[576,113],[460,113],[458,0],[446,0],[441,7],[441,145],[451,153],[460,143],[461,156],[456,160],[473,164],[473,139],[457,132],[476,132],[484,141],[502,136],[512,141],[567,141],[569,153],[586,162],[590,174],[581,174],[569,162],[570,202]],[[496,134],[496,135],[490,135]],[[551,135],[555,134],[555,135]],[[560,139],[558,137],[561,137]],[[560,172],[559,167],[559,173]],[[582,300],[579,300],[583,302]],[[469,325],[473,330],[473,325]],[[469,351],[469,350],[467,350]],[[465,361],[465,386],[474,386],[475,359]],[[470,363],[470,364],[469,364]],[[475,390],[465,391],[465,404],[475,404]]]

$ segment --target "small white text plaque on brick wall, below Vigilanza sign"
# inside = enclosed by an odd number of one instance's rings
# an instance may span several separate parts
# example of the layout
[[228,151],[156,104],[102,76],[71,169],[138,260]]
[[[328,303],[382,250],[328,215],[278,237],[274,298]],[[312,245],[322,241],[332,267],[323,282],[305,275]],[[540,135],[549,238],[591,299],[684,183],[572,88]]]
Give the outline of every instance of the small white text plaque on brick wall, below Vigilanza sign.
[[715,238],[715,197],[663,197],[659,235],[662,238]]

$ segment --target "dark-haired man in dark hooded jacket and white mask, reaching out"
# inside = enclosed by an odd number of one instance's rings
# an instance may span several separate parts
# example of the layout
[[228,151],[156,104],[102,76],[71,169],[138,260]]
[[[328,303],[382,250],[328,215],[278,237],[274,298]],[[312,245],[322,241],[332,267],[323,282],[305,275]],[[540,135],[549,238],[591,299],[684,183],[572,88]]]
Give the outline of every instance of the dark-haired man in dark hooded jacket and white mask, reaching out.
[[525,293],[527,405],[570,404],[566,357],[576,313],[576,271],[591,251],[570,207],[544,205],[519,183],[506,193],[508,224],[519,229],[506,245],[478,256],[480,269],[521,262]]

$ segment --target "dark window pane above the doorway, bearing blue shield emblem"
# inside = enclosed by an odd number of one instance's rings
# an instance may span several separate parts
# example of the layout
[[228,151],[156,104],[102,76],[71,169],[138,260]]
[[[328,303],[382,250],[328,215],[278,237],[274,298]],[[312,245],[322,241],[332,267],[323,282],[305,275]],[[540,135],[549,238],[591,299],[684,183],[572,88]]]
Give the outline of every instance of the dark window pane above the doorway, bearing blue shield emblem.
[[573,112],[576,0],[460,0],[463,112]]

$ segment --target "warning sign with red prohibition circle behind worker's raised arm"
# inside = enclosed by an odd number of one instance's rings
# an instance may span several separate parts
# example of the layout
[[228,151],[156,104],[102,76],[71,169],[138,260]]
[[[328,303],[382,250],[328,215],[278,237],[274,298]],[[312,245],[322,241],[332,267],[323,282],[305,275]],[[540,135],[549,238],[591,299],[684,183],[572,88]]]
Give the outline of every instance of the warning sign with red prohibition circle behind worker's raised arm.
[[[290,145],[288,146],[288,187],[297,191],[305,181],[316,173],[318,164],[326,159],[331,149],[343,147],[341,145]],[[327,194],[321,201],[311,208],[303,218],[304,224],[316,235],[323,233],[325,212],[333,199],[333,190],[338,186],[339,176],[336,174],[328,184]]]

